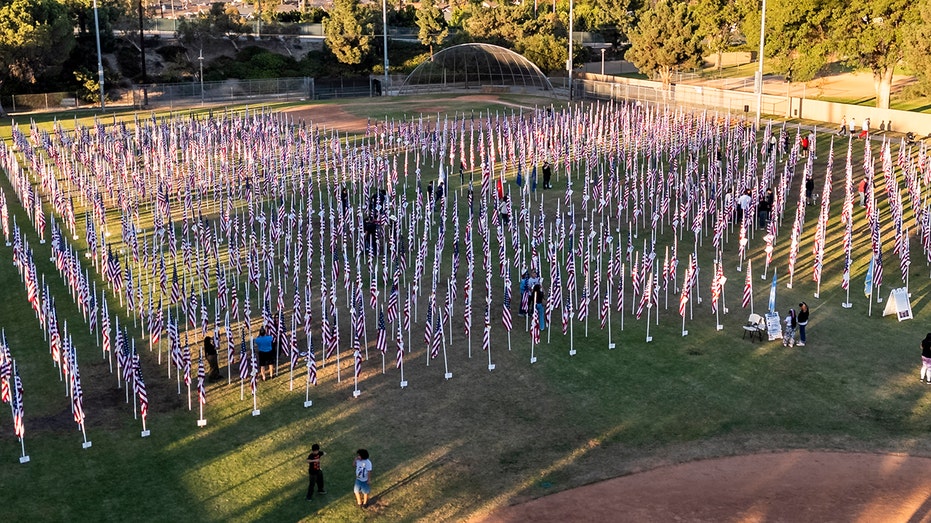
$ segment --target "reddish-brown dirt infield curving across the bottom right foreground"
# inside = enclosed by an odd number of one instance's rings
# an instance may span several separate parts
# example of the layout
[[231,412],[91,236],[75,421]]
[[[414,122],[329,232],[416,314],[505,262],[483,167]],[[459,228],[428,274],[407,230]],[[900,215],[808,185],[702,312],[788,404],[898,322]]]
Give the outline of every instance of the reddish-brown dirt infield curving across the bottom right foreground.
[[506,507],[482,523],[931,522],[931,459],[792,451],[661,467]]

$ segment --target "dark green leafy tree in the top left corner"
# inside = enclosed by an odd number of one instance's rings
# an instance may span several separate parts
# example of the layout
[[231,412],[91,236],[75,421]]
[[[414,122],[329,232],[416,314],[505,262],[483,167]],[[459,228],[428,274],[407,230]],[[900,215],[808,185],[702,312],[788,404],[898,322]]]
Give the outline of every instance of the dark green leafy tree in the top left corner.
[[58,74],[74,45],[68,10],[56,0],[0,0],[0,84]]

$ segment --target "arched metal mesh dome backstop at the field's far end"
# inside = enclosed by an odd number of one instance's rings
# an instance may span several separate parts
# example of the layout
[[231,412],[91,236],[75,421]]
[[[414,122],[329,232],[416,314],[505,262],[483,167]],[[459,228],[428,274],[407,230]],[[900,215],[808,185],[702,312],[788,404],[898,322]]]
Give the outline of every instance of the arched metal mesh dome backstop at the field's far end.
[[482,92],[553,92],[540,68],[523,55],[492,44],[471,43],[448,47],[407,75],[398,94],[451,89]]

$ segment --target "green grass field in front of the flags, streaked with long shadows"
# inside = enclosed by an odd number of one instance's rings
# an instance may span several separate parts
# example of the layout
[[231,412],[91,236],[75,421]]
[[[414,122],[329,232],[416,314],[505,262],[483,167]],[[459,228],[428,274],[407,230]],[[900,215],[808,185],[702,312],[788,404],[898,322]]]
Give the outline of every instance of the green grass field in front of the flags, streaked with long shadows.
[[[435,115],[437,107],[450,114],[473,109],[493,114],[509,111],[513,105],[532,105],[519,98],[503,101],[406,99],[389,105],[343,103],[341,110],[383,120]],[[548,106],[549,102],[540,104]],[[819,193],[828,145],[828,140],[819,140],[814,169]],[[854,165],[862,165],[862,143],[855,145]],[[617,313],[612,313],[615,349],[607,348],[608,334],[599,329],[598,303],[594,303],[588,336],[584,336],[583,323],[574,324],[576,355],[569,356],[569,341],[554,316],[553,330],[543,334],[542,345],[534,349],[537,361],[531,364],[523,318],[515,314],[515,330],[508,340],[496,312],[492,314],[490,356],[496,368],[489,371],[489,355],[481,350],[481,312],[476,307],[470,346],[462,334],[460,299],[454,310],[458,319],[453,322],[453,342],[444,351],[447,365],[442,357],[428,360],[421,309],[414,323],[412,350],[405,355],[406,388],[399,386],[391,343],[384,372],[381,356],[369,348],[371,358],[359,383],[362,393],[353,398],[352,357],[343,338],[338,365],[328,360],[321,366],[318,357],[319,385],[310,391],[312,407],[303,407],[303,368],[295,373],[293,391],[287,371],[259,383],[259,416],[250,415],[248,385],[245,400],[240,400],[237,380],[232,385],[224,381],[208,388],[208,423],[203,428],[196,426],[196,397],[194,410],[189,411],[186,394],[177,394],[174,375],[168,380],[157,355],[143,349],[151,409],[148,428],[152,435],[148,438],[140,438],[140,421],[133,419],[124,391],[116,388],[116,377],[110,374],[94,337],[48,261],[49,245],[37,242],[25,212],[13,204],[12,215],[35,250],[38,272],[47,276],[59,297],[60,318],[68,319],[78,348],[87,437],[93,446],[81,448],[82,437],[71,419],[64,384],[56,379],[58,372],[48,357],[47,343],[29,309],[19,275],[9,263],[11,248],[0,244],[0,260],[6,260],[0,263],[0,282],[8,298],[0,303],[0,327],[5,329],[24,380],[25,445],[31,456],[28,464],[16,462],[19,442],[13,437],[10,416],[0,414],[0,455],[8,463],[0,468],[0,503],[12,515],[11,521],[457,521],[586,483],[715,456],[786,448],[931,456],[931,387],[917,380],[918,342],[931,330],[923,326],[929,314],[931,269],[918,249],[914,217],[909,212],[906,222],[913,232],[909,287],[916,319],[900,323],[881,316],[889,288],[898,286],[900,280],[883,200],[887,283],[881,290],[883,303],[873,303],[872,315],[868,315],[863,275],[869,234],[863,210],[856,208],[850,292],[854,305],[841,307],[845,294],[840,289],[843,260],[837,216],[845,150],[835,144],[820,298],[813,298],[816,287],[811,281],[815,206],[808,207],[793,288],[785,285],[788,230],[801,167],[788,191],[790,200],[776,243],[777,310],[784,316],[799,301],[809,303],[812,321],[805,347],[783,348],[778,342],[741,338],[749,310],[740,307],[745,273],[736,271],[737,232],[732,230],[723,251],[729,278],[725,287],[729,313],[721,316],[723,330],[715,329],[710,311],[712,249],[710,237],[704,237],[698,247],[703,269],[699,293],[704,299],[701,304],[692,301],[688,336],[681,333],[678,295],[670,291],[667,309],[661,291],[659,325],[650,326],[653,341],[646,343],[645,318],[634,319],[628,292],[623,330]],[[556,175],[554,186],[564,187],[563,170],[558,169]],[[881,178],[878,172],[878,185]],[[579,183],[574,187],[578,189]],[[7,200],[15,202],[6,179],[2,189]],[[450,189],[459,190],[458,183]],[[563,198],[560,189],[543,194],[548,212],[554,209],[555,200]],[[459,203],[465,207],[464,198]],[[680,240],[680,267],[691,249],[690,236]],[[760,277],[761,236],[755,233],[749,250],[756,311],[766,307],[773,270],[770,267],[766,279]],[[645,237],[641,230],[634,240],[637,249]],[[671,243],[671,238],[667,224],[657,245]],[[476,265],[480,266],[478,245],[476,240]],[[447,260],[448,256],[449,252]],[[680,281],[681,273],[680,268]],[[476,286],[481,286],[480,281],[476,279]],[[99,279],[98,284],[102,285]],[[118,310],[118,301],[110,298],[111,311]],[[495,303],[500,307],[500,302]],[[256,310],[254,305],[253,313]],[[516,306],[512,310],[516,312]],[[127,321],[132,322],[121,310],[120,323]],[[145,346],[140,329],[130,328],[130,334],[138,346]],[[368,340],[372,342],[373,336]],[[220,359],[225,361],[222,352]],[[225,364],[222,370],[226,372]],[[451,379],[444,379],[446,371],[452,372]],[[323,468],[328,494],[307,502],[304,458],[315,442],[327,452]],[[365,511],[355,506],[352,495],[351,461],[360,447],[370,451],[374,462],[373,505]]]

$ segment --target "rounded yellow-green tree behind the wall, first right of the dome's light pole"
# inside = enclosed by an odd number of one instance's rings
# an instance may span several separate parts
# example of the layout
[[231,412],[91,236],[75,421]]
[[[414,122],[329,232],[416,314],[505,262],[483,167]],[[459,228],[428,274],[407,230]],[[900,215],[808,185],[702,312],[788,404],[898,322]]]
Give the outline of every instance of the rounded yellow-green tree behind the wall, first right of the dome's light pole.
[[658,76],[664,87],[672,73],[685,67],[695,67],[701,60],[701,40],[698,23],[685,2],[658,0],[641,13],[630,32],[630,49],[626,58],[637,69]]

